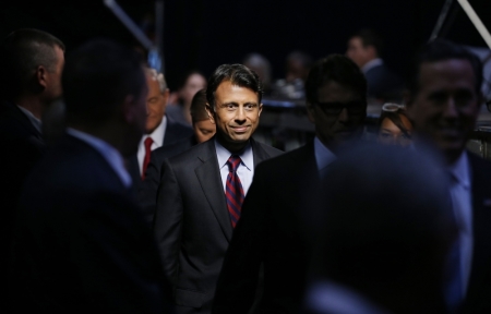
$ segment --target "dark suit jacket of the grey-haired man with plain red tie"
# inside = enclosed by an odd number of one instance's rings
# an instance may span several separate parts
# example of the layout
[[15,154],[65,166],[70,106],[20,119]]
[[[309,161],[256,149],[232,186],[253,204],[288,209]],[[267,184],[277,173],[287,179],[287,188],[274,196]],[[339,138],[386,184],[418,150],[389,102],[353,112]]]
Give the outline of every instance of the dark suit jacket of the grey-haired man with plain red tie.
[[164,159],[179,155],[196,145],[194,135],[164,145],[152,152],[151,162],[146,168],[145,180],[140,184],[139,203],[145,220],[153,226],[155,205],[157,204],[157,190],[160,184],[160,170]]

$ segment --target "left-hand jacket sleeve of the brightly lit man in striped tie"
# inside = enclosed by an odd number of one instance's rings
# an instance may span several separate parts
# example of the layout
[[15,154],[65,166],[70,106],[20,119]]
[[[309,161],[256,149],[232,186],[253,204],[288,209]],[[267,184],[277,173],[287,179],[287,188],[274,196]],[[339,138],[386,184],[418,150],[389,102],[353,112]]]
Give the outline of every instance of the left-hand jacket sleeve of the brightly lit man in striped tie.
[[154,231],[165,276],[175,286],[181,249],[184,210],[179,182],[172,166],[167,159],[163,164],[161,173],[154,217]]

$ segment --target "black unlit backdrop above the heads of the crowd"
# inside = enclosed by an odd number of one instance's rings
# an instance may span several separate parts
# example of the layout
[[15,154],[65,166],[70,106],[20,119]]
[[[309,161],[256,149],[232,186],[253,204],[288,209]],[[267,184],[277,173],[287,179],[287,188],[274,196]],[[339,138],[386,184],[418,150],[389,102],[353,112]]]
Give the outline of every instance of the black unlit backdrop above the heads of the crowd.
[[[59,2],[2,1],[0,36],[21,27],[39,28],[59,37],[67,45],[68,53],[93,37],[137,45],[103,0]],[[136,24],[152,33],[155,1],[117,2]],[[172,89],[187,70],[199,69],[209,75],[217,65],[241,62],[247,53],[255,51],[272,62],[274,77],[282,77],[285,57],[291,50],[303,50],[315,59],[333,52],[344,53],[349,35],[362,27],[379,32],[385,40],[386,63],[405,75],[410,56],[430,37],[444,2],[166,0],[166,76]],[[471,0],[470,3],[491,28],[490,1]],[[462,10],[456,11],[453,25],[445,28],[446,38],[486,46]]]

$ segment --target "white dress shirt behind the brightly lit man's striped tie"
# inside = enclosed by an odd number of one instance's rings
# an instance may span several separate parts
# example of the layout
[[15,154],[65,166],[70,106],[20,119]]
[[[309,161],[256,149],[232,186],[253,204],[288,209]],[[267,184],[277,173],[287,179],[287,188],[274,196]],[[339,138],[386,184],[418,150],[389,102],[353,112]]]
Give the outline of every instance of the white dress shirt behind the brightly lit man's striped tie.
[[[231,155],[235,155],[227,150],[215,137],[215,150],[218,158],[218,168],[220,169],[221,183],[224,185],[224,193],[227,184],[228,165],[227,160]],[[240,183],[242,183],[244,196],[248,194],[249,186],[251,186],[252,178],[254,177],[254,155],[252,154],[252,146],[249,142],[241,153],[237,154],[241,161],[237,168],[237,176],[239,176]]]

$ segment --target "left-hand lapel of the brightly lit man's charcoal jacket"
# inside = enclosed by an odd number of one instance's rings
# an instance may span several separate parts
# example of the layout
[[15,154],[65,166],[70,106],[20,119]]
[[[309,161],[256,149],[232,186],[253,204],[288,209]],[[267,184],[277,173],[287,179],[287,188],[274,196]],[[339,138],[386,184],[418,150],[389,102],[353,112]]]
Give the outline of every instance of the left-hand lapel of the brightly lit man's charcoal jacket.
[[218,159],[215,150],[215,140],[212,138],[203,144],[203,152],[197,158],[203,162],[194,172],[200,181],[209,207],[220,225],[227,241],[230,242],[232,235],[232,227],[230,217],[227,210],[227,204],[225,202],[224,185],[221,183],[220,171],[218,169]]

